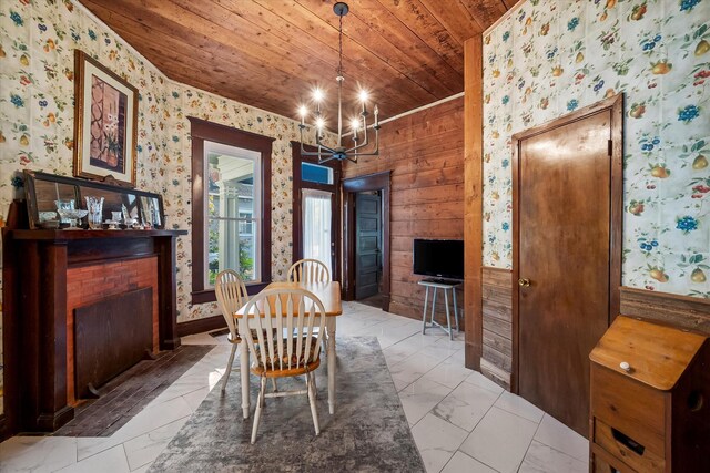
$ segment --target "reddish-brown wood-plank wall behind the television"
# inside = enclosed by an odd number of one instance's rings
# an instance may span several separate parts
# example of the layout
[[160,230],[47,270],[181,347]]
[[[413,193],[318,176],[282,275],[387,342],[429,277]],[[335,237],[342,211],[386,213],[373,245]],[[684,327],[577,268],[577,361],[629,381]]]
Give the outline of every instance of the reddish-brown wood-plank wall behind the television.
[[343,178],[383,171],[392,171],[389,310],[418,319],[424,288],[412,274],[412,240],[464,238],[464,100],[384,124],[379,157],[347,163]]

